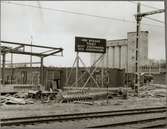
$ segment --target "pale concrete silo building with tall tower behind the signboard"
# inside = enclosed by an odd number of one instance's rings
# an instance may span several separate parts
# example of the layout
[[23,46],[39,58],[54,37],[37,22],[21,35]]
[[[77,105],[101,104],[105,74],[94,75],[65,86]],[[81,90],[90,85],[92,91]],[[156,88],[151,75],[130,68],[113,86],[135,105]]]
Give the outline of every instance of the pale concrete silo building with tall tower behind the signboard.
[[[148,31],[139,33],[138,66],[148,63]],[[100,54],[91,54],[93,64]],[[126,69],[135,72],[136,63],[136,32],[128,32],[127,39],[108,40],[104,59],[97,64],[98,67]]]

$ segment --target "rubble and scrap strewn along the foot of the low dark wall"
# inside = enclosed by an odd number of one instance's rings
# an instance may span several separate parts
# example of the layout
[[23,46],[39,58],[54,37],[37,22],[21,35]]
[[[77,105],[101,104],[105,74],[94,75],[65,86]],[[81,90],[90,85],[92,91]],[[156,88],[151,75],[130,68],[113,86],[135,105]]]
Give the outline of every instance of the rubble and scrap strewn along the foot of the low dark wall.
[[[118,89],[114,92],[90,92],[90,93],[68,93],[63,92],[62,90],[29,90],[29,92],[17,92],[14,95],[6,94],[5,96],[1,96],[0,103],[3,104],[33,104],[37,101],[41,103],[78,103],[78,104],[87,104],[93,105],[93,101],[95,100],[104,100],[108,97],[108,99],[113,98],[121,98],[127,99],[127,96],[131,96],[132,93],[126,89]],[[139,97],[147,98],[147,97],[165,97],[166,96],[166,86],[165,85],[144,85],[139,88]],[[33,100],[33,101],[32,101]],[[114,105],[121,105],[122,102],[116,102]]]

